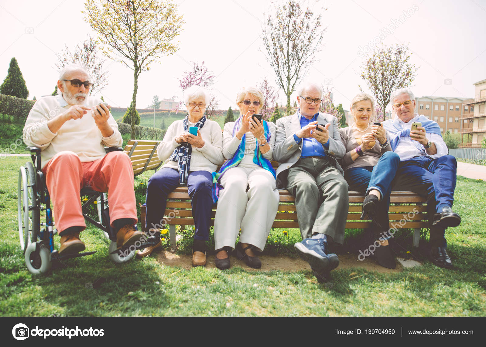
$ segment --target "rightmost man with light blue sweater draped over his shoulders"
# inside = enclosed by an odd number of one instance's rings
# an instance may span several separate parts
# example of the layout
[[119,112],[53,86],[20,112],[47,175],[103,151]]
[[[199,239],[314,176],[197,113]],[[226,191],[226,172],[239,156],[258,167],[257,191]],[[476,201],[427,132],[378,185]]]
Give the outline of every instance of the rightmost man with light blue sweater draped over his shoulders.
[[[385,120],[383,128],[392,134],[392,149],[400,157],[393,190],[411,190],[427,196],[429,215],[434,215],[430,227],[430,258],[440,267],[452,268],[447,254],[444,233],[447,227],[457,227],[461,217],[451,209],[456,185],[456,159],[442,139],[436,122],[415,113],[415,97],[411,90],[394,91],[390,100],[397,116]],[[420,122],[417,130],[414,122]],[[417,125],[417,124],[416,124]]]

